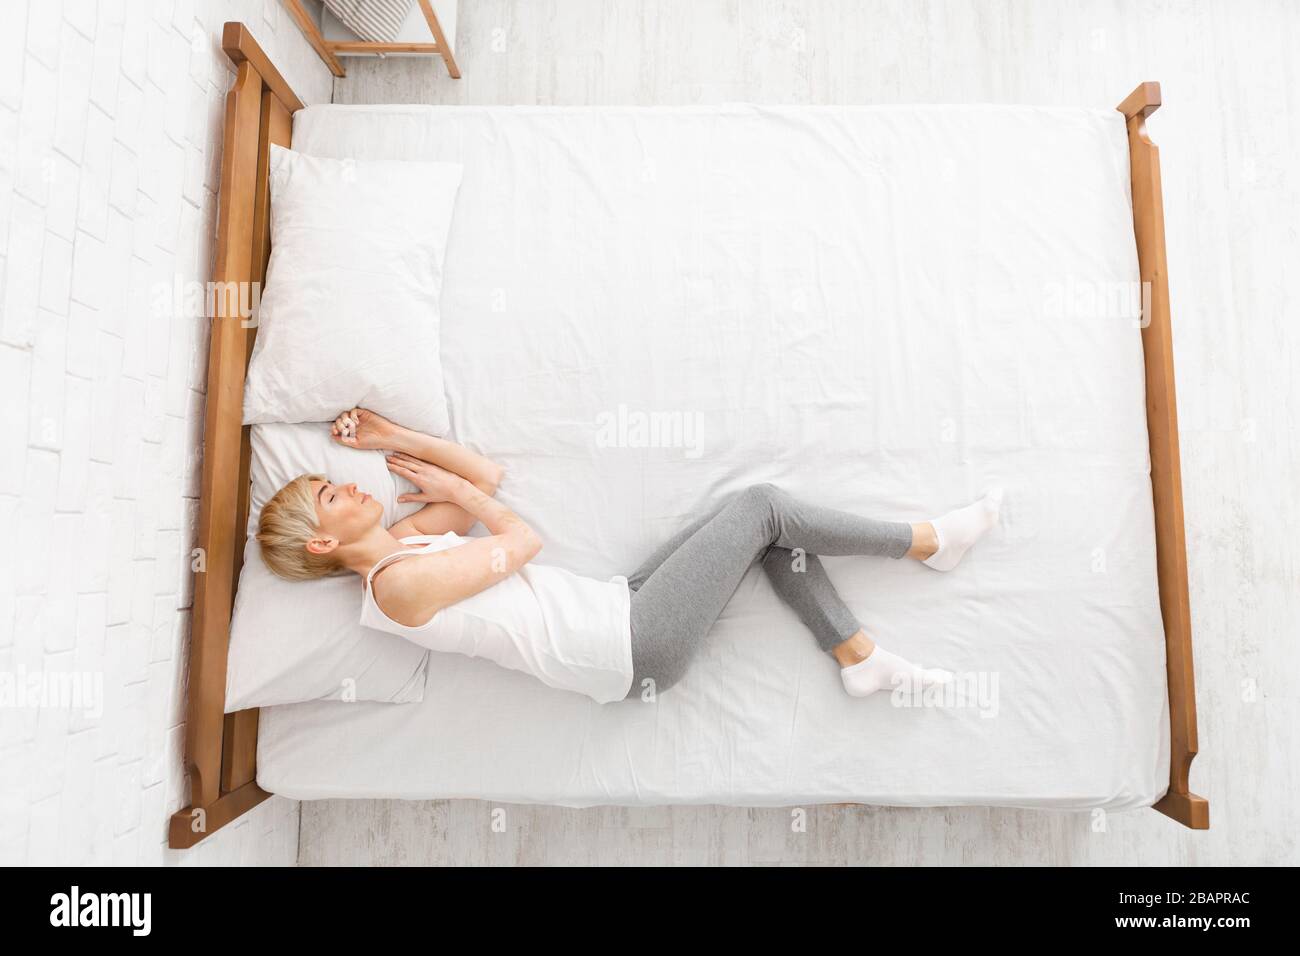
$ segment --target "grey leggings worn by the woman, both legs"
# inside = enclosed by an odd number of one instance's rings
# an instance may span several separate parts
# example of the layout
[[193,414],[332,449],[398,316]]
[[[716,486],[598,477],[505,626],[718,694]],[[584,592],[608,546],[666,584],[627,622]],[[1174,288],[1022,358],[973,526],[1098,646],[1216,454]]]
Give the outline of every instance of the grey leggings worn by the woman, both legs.
[[[796,570],[792,549],[803,550]],[[861,630],[835,592],[818,554],[901,558],[911,525],[805,505],[774,485],[753,485],[716,514],[659,548],[628,579],[632,591],[632,689],[645,680],[667,691],[685,672],[705,635],[757,559],[818,645],[831,650]]]

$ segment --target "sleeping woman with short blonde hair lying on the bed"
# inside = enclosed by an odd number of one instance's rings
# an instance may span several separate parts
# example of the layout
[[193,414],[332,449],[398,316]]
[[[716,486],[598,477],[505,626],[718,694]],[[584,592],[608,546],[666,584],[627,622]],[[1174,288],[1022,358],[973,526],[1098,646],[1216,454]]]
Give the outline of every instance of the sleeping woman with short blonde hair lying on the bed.
[[[601,702],[649,700],[672,687],[755,561],[840,663],[854,697],[902,682],[945,682],[946,672],[875,644],[818,554],[913,558],[950,571],[997,523],[1001,503],[994,489],[941,518],[905,524],[751,485],[667,541],[630,578],[599,581],[530,563],[542,542],[493,498],[502,470],[486,458],[364,408],[343,412],[333,437],[347,447],[390,449],[389,471],[420,489],[398,499],[425,506],[385,528],[382,506],[355,484],[303,475],[261,512],[257,541],[272,571],[292,580],[352,571],[364,581],[367,627],[486,657]],[[474,522],[490,533],[463,537]]]

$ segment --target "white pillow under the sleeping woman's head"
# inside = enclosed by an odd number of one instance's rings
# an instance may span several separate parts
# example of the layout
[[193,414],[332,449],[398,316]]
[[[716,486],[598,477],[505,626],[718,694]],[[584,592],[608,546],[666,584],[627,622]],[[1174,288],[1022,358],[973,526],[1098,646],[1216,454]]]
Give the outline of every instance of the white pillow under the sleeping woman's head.
[[255,425],[248,540],[230,622],[226,713],[306,700],[404,704],[424,698],[429,652],[361,627],[361,579],[354,574],[286,581],[261,559],[254,532],[263,505],[291,479],[311,472],[356,481],[384,505],[391,524],[419,510],[399,505],[413,492],[394,479],[382,451],[335,445],[328,424]]

